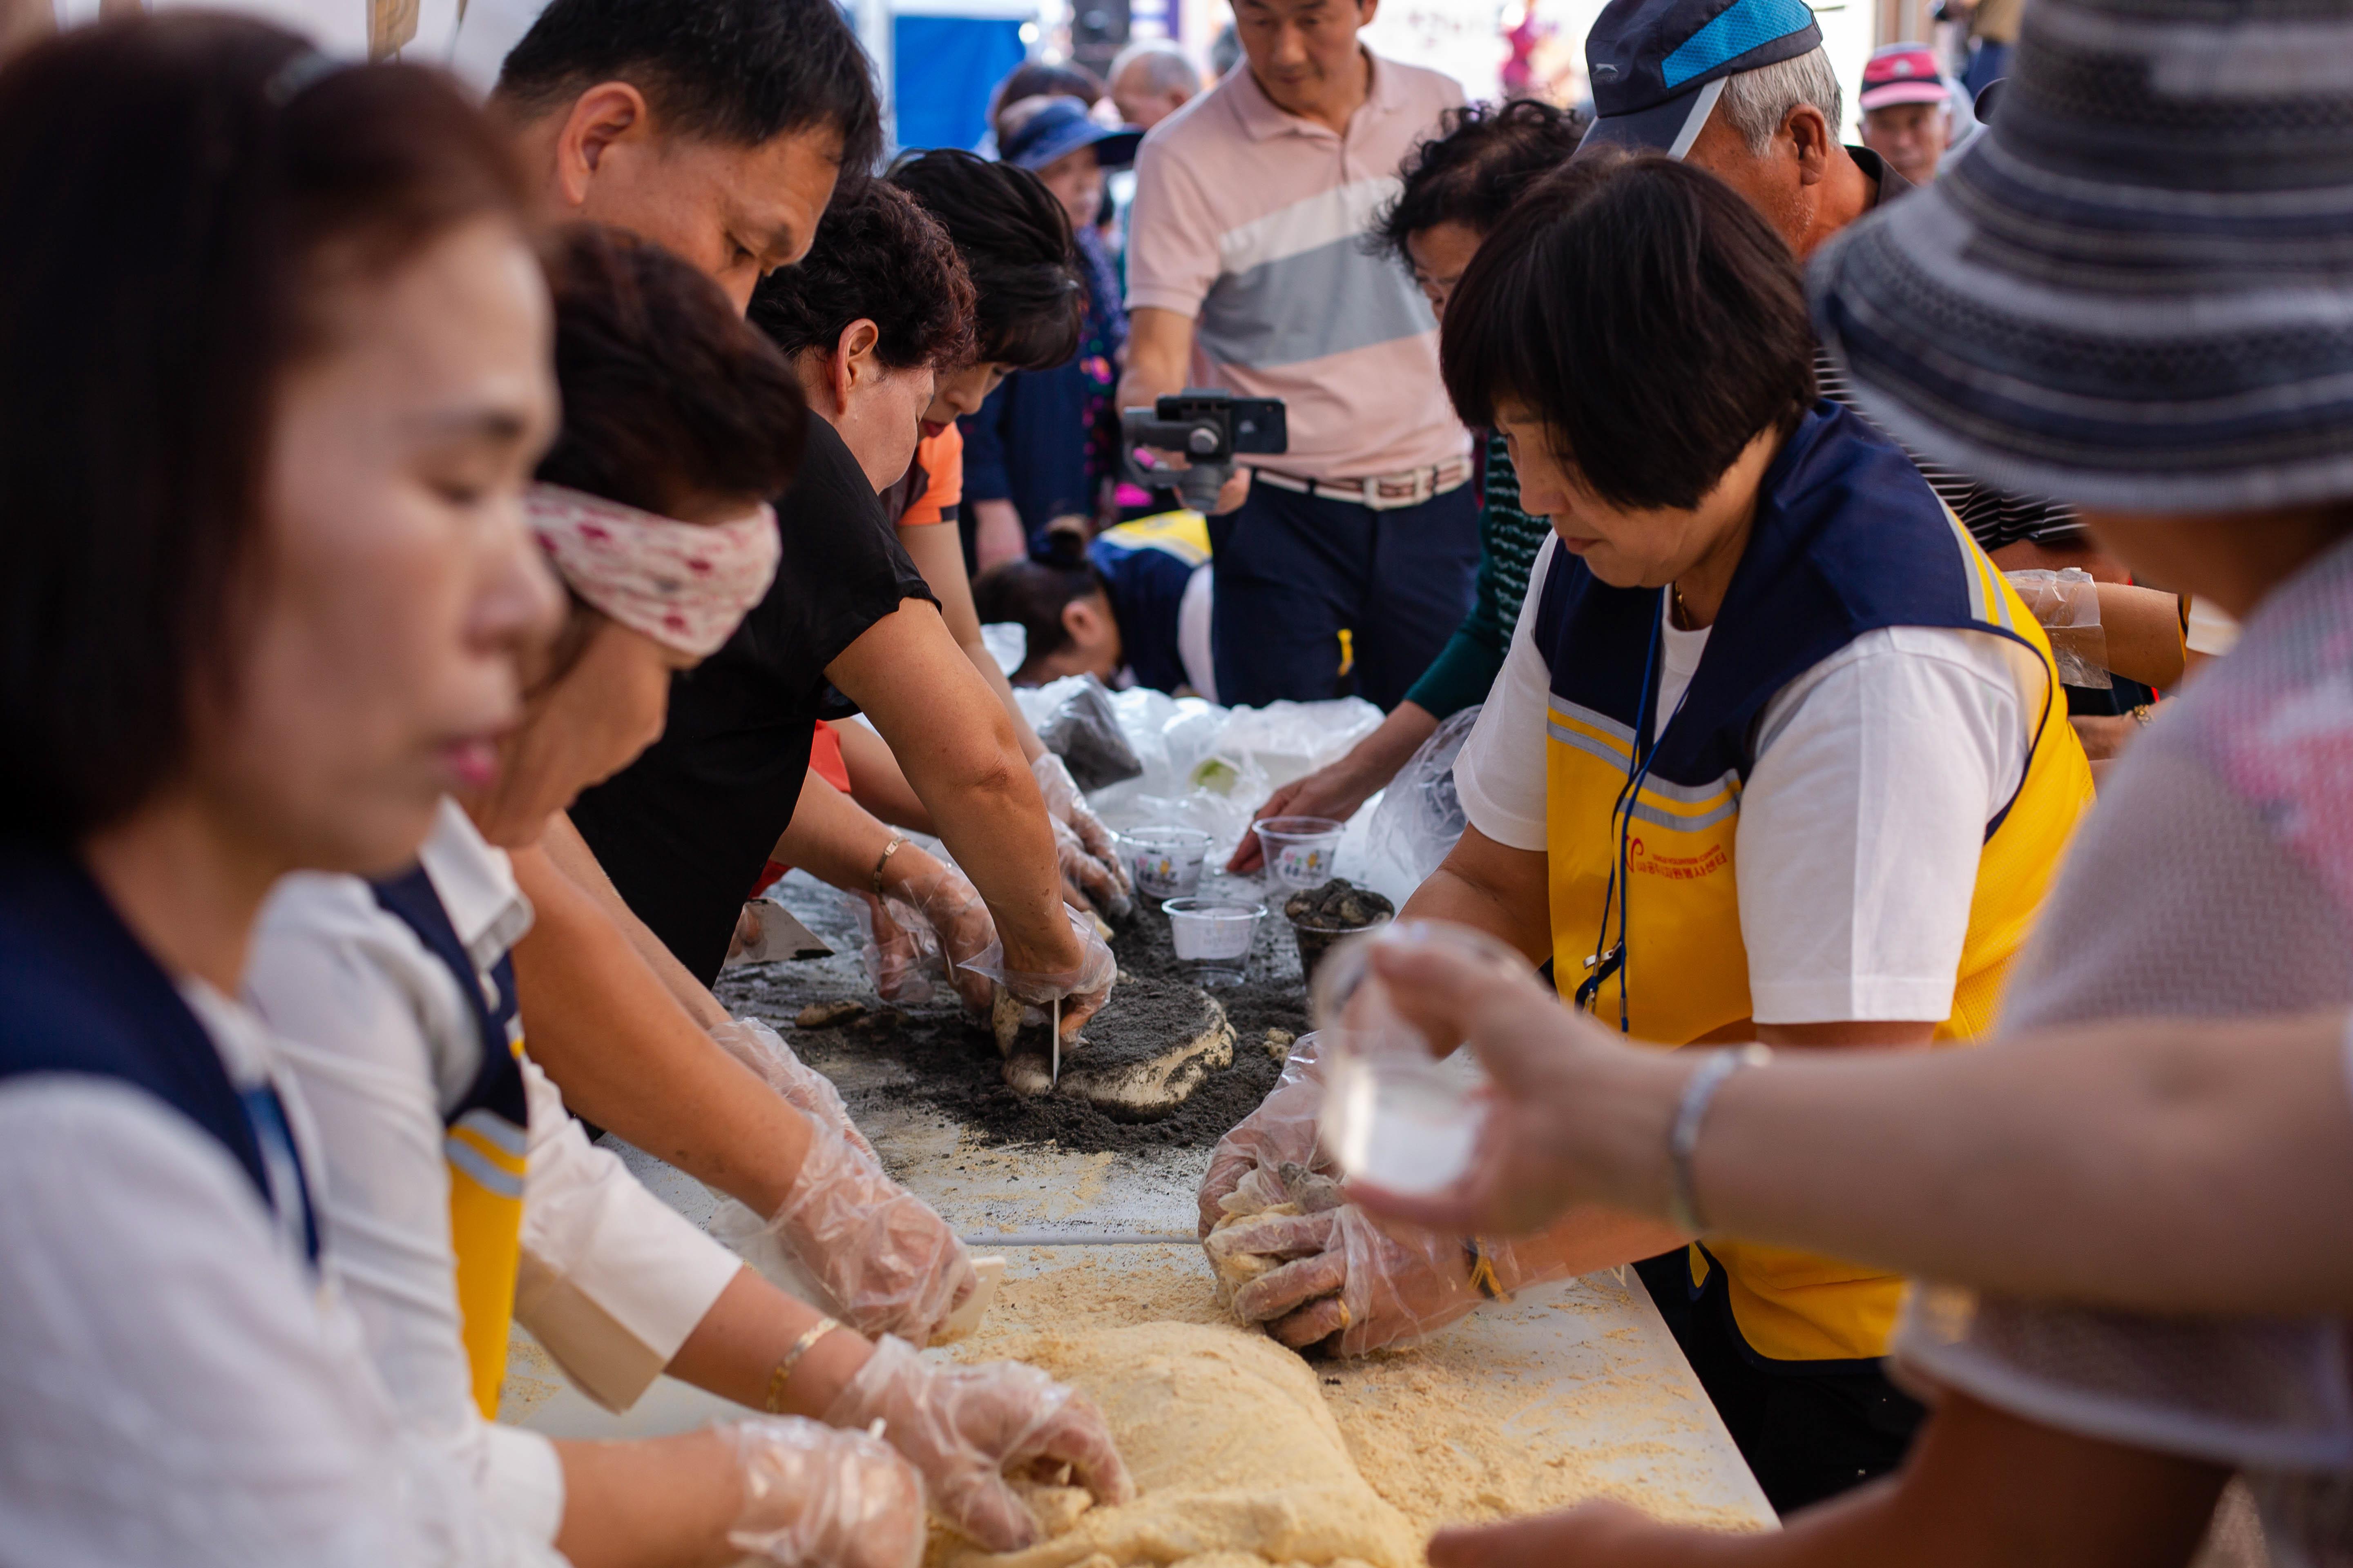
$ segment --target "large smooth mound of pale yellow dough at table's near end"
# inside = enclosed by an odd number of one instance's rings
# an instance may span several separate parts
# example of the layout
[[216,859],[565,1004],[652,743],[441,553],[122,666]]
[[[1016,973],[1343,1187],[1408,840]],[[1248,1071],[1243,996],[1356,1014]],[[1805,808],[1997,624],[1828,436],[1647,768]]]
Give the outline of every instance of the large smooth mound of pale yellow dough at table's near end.
[[1144,1324],[991,1347],[1042,1366],[1104,1410],[1136,1500],[1075,1519],[1038,1497],[1059,1535],[958,1568],[1417,1568],[1421,1540],[1365,1486],[1315,1373],[1259,1333]]

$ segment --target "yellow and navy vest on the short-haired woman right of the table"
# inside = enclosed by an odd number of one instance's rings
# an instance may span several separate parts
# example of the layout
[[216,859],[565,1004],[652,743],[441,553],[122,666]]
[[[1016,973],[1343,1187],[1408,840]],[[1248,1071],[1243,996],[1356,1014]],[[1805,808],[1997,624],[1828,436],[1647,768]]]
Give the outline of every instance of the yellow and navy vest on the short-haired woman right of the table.
[[[1748,1039],[1734,842],[1751,726],[1788,679],[1878,625],[1977,628],[2031,649],[2045,672],[2019,792],[1979,858],[1953,1016],[1937,1039],[1993,1025],[2009,959],[2057,875],[2092,773],[2066,722],[2049,644],[2000,571],[1911,463],[1852,414],[1819,404],[1765,477],[1748,555],[1734,576],[1692,691],[1652,757],[1626,823],[1626,1016],[1645,1041]],[[1897,578],[1897,581],[1889,581]],[[1659,592],[1614,590],[1558,555],[1539,585],[1537,637],[1553,668],[1546,715],[1546,849],[1553,973],[1572,997],[1602,940],[1619,865],[1614,809],[1633,769],[1642,675]],[[1774,914],[1784,917],[1784,914]],[[1805,910],[1786,919],[1805,919]],[[1595,997],[1619,1016],[1619,980]],[[1901,1279],[1875,1269],[1708,1239],[1694,1284],[1722,1262],[1748,1347],[1777,1361],[1859,1361],[1887,1352]]]

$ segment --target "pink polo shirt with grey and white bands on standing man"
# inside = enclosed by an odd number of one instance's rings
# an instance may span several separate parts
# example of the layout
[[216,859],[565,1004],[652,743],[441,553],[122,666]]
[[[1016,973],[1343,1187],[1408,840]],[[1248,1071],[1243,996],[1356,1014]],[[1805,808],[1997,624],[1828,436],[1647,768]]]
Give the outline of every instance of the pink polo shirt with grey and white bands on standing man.
[[1289,404],[1268,468],[1358,480],[1457,458],[1468,435],[1438,381],[1438,317],[1365,233],[1398,165],[1464,101],[1454,78],[1369,49],[1348,134],[1275,103],[1242,63],[1153,127],[1136,155],[1127,308],[1193,317],[1209,381]]

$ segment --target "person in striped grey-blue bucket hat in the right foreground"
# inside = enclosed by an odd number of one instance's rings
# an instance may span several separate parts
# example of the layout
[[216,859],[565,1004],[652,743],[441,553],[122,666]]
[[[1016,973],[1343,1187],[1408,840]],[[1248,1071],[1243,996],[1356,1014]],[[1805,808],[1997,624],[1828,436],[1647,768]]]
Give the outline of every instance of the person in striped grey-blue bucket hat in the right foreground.
[[[2233,1269],[2226,1232],[2273,1237],[2249,1258],[2341,1255],[2304,1232],[2341,1234],[2344,1185],[2315,1161],[2287,1178],[2299,1192],[2266,1201],[2287,1185],[2273,1143],[2294,1119],[2188,1114],[2212,1084],[2184,1051],[2200,1030],[2205,1046],[2240,1034],[2247,1060],[2233,1072],[2318,1098],[2322,1114],[2294,1135],[2329,1128],[2341,1147],[2353,1001],[2346,59],[2344,7],[2148,0],[2127,14],[2038,0],[1988,136],[1929,193],[1828,247],[1812,277],[1824,339],[1873,414],[1934,456],[2078,503],[2127,564],[2242,618],[2228,658],[2111,776],[2019,959],[2009,1044],[1981,1063],[1981,1093],[1937,1093],[1925,1060],[1859,1060],[1847,1070],[1873,1072],[1889,1100],[1887,1117],[1854,1119],[1859,1103],[1819,1077],[1802,1107],[1781,1103],[1798,1084],[1767,1088],[1774,1067],[1734,1079],[1697,1140],[1673,1154],[1654,1143],[1649,1168],[1678,1171],[1689,1201],[1741,1211],[1791,1244],[1833,1232],[1852,1244],[1875,1225],[1882,1241],[1866,1251],[1951,1281],[1920,1288],[1897,1338],[1897,1356],[1941,1392],[1913,1460],[1871,1497],[1788,1521],[1772,1544],[1701,1542],[1598,1507],[1442,1535],[1438,1568],[2186,1563],[2231,1472],[2247,1481],[2235,1495],[2261,1509],[2261,1540],[2200,1561],[2353,1559],[2344,1284],[2278,1260],[2261,1284],[2214,1279]],[[2257,1023],[2294,1009],[2311,1009],[2304,1023]],[[1548,1095],[1588,1100],[1595,1077],[1560,1070],[1562,1041],[1546,1039],[1574,1020],[1527,1018],[1520,1046],[1553,1065]],[[2094,1053],[2054,1048],[2061,1027],[2101,1020]],[[2019,1110],[2047,1086],[2085,1114]],[[1647,1110],[1607,1098],[1609,1114],[1664,1126],[1689,1098],[1661,1088],[1638,1095]],[[2101,1112],[2101,1100],[2129,1110]],[[1551,1147],[1574,1138],[1546,1128]],[[2212,1192],[2172,1187],[2177,1159],[2202,1166]],[[2038,1185],[2021,1168],[2068,1175]],[[1944,1206],[1925,1199],[1929,1171],[1988,1173],[1988,1192]],[[1607,1201],[1588,1185],[1555,1192],[1555,1204],[1593,1199]],[[2212,1199],[2202,1213],[2200,1199]],[[1475,1222],[1468,1206],[1414,1213]],[[2125,1241],[2089,1241],[2104,1213]],[[2217,1542],[2245,1523],[2214,1516]]]

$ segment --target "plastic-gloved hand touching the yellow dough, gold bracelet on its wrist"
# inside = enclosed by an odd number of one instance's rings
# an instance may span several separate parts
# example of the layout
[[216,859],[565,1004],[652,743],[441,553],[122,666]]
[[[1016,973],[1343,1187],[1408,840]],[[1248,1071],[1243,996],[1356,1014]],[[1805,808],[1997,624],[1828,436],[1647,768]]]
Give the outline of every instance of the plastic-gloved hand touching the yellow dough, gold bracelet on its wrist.
[[929,1366],[906,1340],[882,1340],[826,1410],[835,1427],[875,1420],[922,1472],[932,1507],[988,1552],[1038,1540],[1038,1521],[1005,1486],[1007,1474],[1059,1479],[1068,1467],[1099,1502],[1136,1495],[1104,1418],[1035,1366]]

